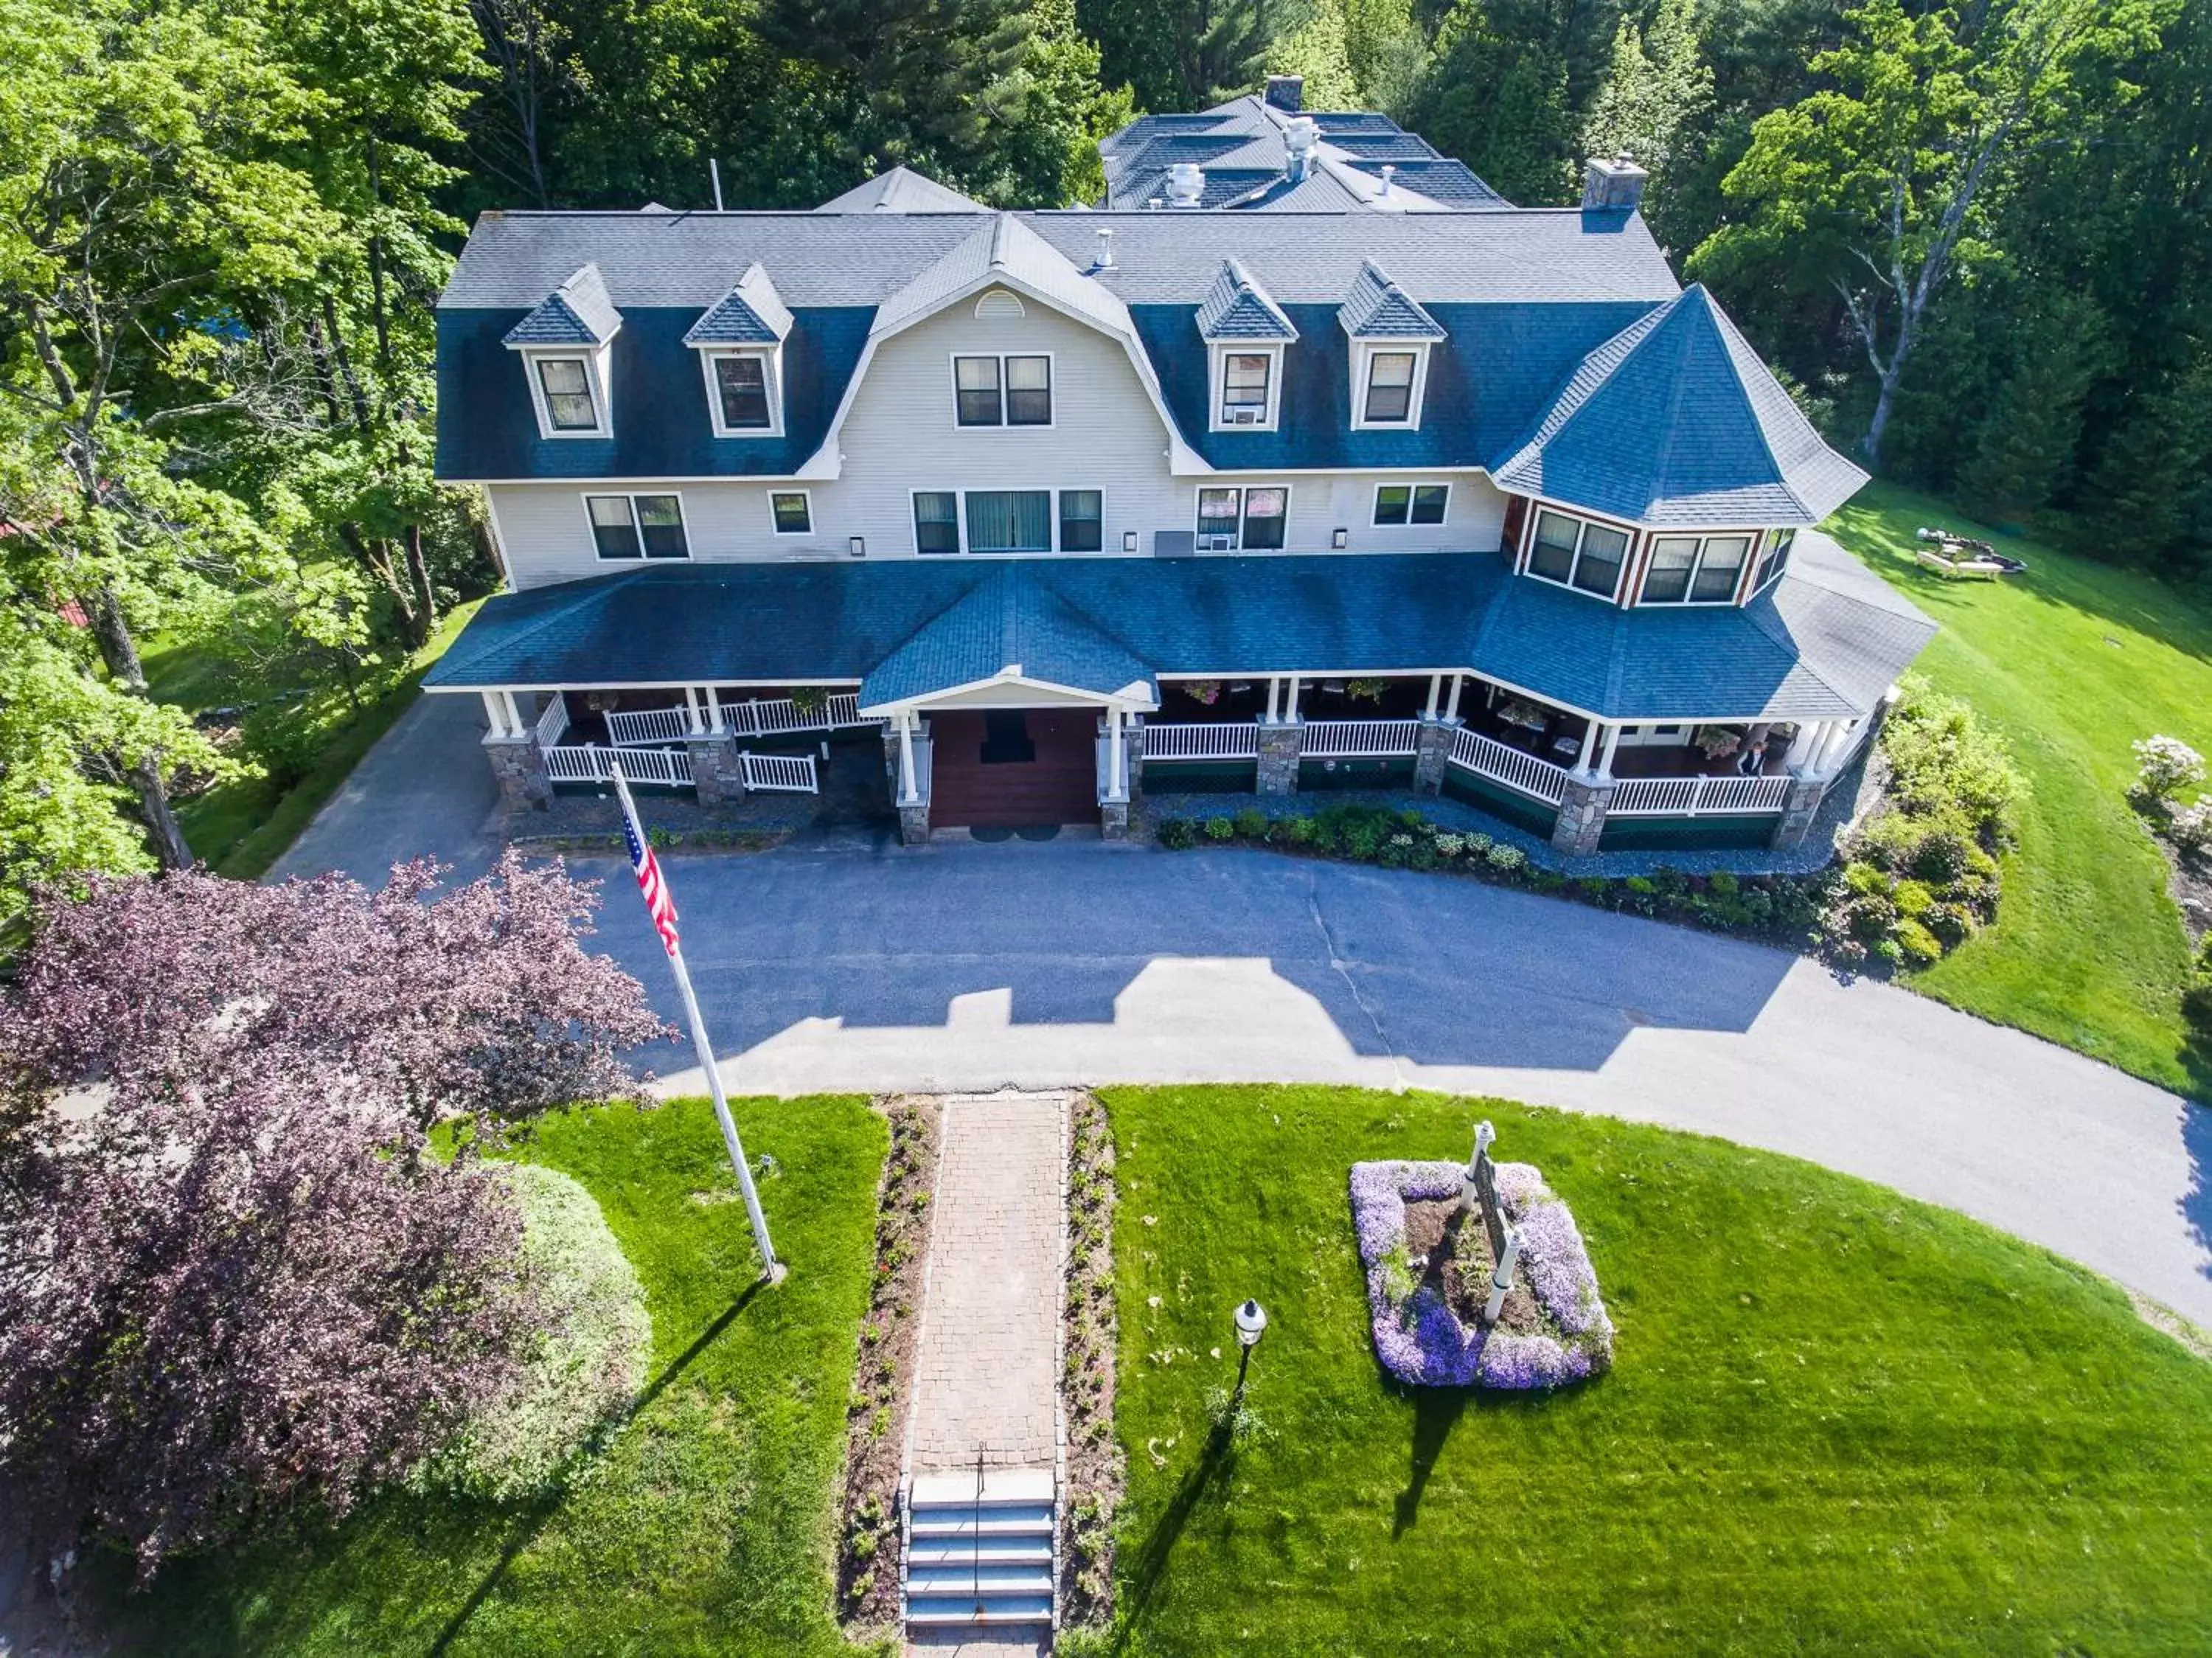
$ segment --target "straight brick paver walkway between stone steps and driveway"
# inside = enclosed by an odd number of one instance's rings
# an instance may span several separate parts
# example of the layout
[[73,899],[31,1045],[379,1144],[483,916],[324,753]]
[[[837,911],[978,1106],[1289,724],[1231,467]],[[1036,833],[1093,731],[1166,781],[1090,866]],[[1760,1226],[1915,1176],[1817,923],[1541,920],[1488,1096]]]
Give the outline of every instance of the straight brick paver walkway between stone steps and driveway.
[[914,1368],[916,1472],[1053,1468],[1066,1094],[956,1094]]

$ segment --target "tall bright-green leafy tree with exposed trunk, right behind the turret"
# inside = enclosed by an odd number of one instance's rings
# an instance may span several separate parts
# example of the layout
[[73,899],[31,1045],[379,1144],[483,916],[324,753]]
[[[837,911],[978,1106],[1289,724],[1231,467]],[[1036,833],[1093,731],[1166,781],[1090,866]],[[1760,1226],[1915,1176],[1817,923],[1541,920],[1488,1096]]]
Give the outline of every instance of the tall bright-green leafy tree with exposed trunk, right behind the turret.
[[2154,22],[2148,0],[1993,0],[1966,20],[1867,0],[1814,60],[1832,86],[1759,120],[1725,184],[1745,217],[1690,272],[1832,288],[1876,376],[1860,447],[1880,463],[1931,308],[1982,250],[1986,193],[2024,151],[2064,144],[2084,102],[2126,97],[2117,66]]

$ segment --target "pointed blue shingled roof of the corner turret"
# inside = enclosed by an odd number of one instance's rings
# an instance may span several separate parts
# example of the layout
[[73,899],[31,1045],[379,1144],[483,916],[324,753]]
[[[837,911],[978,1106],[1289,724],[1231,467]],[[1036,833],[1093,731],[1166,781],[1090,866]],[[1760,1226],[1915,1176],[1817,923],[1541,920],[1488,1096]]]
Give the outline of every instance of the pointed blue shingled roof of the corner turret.
[[1493,476],[1650,525],[1816,525],[1865,483],[1701,286],[1577,363]]

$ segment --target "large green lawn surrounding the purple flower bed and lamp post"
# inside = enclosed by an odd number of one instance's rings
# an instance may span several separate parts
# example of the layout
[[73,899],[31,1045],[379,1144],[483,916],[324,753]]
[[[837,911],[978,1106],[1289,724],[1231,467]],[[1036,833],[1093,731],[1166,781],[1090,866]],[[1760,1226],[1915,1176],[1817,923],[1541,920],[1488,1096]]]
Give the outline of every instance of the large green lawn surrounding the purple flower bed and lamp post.
[[[2212,1366],[2081,1268],[1812,1164],[1502,1100],[1104,1100],[1119,1651],[2205,1649]],[[1345,1175],[1464,1158],[1478,1116],[1582,1224],[1619,1326],[1599,1381],[1380,1379]],[[1221,1454],[1243,1295],[1272,1317],[1263,1428]]]

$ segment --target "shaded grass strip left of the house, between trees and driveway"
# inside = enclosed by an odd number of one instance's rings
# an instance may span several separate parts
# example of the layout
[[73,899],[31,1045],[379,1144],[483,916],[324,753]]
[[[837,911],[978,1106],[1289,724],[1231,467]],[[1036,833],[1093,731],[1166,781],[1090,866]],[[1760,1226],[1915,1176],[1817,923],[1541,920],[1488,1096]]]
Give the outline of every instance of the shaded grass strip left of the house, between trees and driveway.
[[[177,821],[184,826],[184,839],[192,852],[206,859],[217,874],[239,881],[265,874],[307,828],[307,819],[323,808],[323,801],[338,792],[338,786],[376,746],[376,739],[392,730],[392,722],[414,706],[422,675],[460,638],[478,604],[482,600],[469,600],[447,611],[429,644],[409,657],[407,675],[383,697],[365,702],[361,713],[336,730],[314,768],[292,788],[272,788],[261,777],[241,777],[181,801]],[[210,657],[186,646],[148,649],[146,680],[155,700],[195,713],[217,704],[223,695]]]

